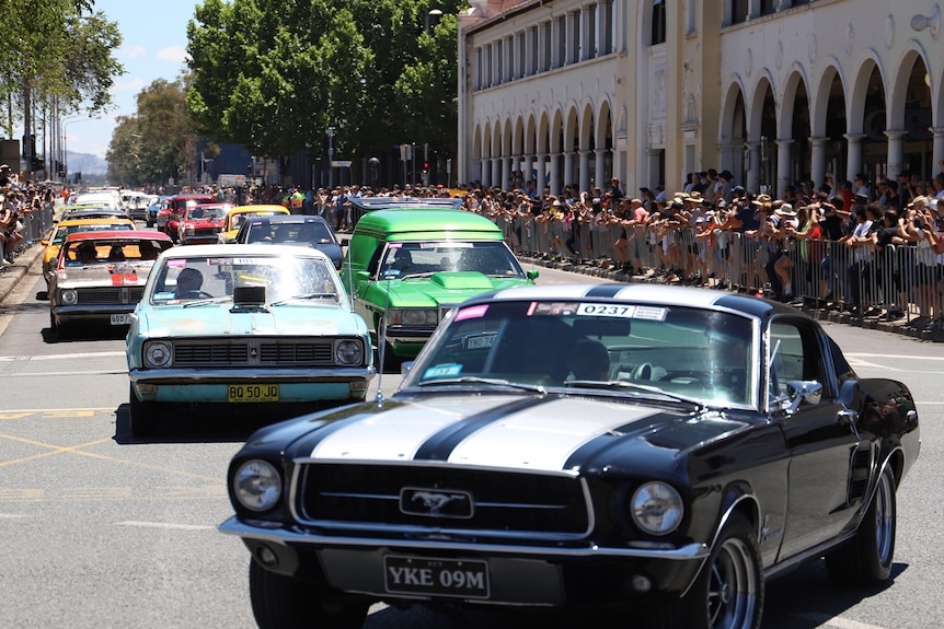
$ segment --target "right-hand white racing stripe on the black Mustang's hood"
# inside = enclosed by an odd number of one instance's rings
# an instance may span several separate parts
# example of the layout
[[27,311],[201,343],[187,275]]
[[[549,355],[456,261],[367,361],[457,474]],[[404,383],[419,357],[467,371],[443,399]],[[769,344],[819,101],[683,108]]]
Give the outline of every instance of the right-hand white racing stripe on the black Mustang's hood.
[[588,408],[586,400],[562,398],[490,423],[462,441],[449,462],[560,471],[582,445],[652,415],[651,408],[606,403]]

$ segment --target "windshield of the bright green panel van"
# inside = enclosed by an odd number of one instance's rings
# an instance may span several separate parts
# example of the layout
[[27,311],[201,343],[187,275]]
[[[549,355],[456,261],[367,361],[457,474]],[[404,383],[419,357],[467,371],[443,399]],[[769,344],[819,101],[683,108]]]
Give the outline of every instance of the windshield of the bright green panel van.
[[439,271],[477,271],[493,277],[523,277],[502,242],[392,243],[380,260],[381,279],[406,279]]

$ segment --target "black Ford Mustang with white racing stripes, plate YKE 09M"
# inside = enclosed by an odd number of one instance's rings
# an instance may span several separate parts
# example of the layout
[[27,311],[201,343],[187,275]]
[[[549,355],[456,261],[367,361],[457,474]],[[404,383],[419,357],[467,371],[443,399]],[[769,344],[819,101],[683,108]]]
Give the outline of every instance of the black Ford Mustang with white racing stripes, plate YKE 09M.
[[249,550],[260,627],[359,627],[384,602],[756,629],[767,581],[808,562],[893,574],[914,400],[795,308],[519,287],[445,313],[405,366],[390,397],[232,458],[220,529]]

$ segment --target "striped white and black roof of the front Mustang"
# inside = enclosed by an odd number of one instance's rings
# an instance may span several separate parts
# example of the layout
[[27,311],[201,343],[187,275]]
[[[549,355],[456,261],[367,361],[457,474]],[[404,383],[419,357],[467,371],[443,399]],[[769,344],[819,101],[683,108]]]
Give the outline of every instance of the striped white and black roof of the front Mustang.
[[693,287],[672,287],[655,283],[613,284],[539,284],[506,289],[472,298],[477,301],[520,300],[601,300],[610,302],[652,303],[700,308],[728,308],[747,316],[767,317],[771,314],[791,314],[806,317],[796,308],[760,298],[738,293],[712,291]]

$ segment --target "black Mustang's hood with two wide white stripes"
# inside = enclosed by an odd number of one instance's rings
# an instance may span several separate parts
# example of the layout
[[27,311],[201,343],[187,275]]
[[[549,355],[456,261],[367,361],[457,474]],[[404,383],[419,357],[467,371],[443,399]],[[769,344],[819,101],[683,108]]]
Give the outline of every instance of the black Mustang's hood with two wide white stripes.
[[289,459],[439,462],[536,471],[607,465],[619,474],[621,465],[652,459],[672,467],[681,453],[747,426],[744,417],[717,411],[674,411],[583,395],[401,394],[382,405],[349,406],[263,429],[246,449],[290,440]]

